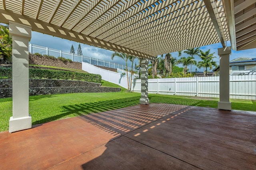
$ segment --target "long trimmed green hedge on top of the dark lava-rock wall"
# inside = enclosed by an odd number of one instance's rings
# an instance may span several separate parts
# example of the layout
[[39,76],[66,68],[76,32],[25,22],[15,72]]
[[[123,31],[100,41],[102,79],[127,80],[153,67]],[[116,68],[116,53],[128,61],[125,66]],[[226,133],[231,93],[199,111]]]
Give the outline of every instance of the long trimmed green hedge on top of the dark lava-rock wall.
[[[0,67],[0,78],[12,78],[12,68]],[[99,74],[34,68],[29,68],[29,78],[81,80],[87,82],[101,83],[101,76]]]

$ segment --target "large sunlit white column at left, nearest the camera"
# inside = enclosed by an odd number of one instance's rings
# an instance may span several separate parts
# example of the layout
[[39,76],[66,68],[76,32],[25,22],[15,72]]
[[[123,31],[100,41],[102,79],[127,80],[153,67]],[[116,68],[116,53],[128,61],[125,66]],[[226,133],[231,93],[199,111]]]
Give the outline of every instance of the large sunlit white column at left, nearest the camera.
[[28,42],[31,27],[10,21],[12,35],[12,117],[9,132],[31,128],[32,119],[28,114]]

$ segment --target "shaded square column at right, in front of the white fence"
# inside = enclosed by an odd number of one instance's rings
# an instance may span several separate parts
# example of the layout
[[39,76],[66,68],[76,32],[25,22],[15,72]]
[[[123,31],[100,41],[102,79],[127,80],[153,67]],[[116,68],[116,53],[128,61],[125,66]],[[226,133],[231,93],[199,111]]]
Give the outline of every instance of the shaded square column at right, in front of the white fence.
[[229,101],[229,55],[231,47],[218,49],[220,56],[220,101],[218,109],[231,110],[231,102]]

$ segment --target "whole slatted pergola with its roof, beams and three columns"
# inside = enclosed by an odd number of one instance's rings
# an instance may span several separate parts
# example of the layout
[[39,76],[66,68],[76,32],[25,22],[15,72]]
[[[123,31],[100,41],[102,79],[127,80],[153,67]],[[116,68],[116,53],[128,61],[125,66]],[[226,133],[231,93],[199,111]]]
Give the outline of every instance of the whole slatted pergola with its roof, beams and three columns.
[[255,0],[0,0],[0,22],[10,25],[13,41],[10,132],[31,128],[31,30],[140,57],[141,104],[149,103],[148,62],[155,56],[220,42],[218,108],[231,110],[231,48],[256,47]]

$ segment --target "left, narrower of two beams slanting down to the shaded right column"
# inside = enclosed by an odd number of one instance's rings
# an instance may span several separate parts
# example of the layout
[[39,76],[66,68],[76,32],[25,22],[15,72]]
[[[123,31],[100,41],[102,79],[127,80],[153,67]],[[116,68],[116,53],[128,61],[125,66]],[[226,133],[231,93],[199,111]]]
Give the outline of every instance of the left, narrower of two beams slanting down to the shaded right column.
[[204,4],[205,4],[205,6],[206,6],[206,8],[208,10],[210,18],[212,19],[212,23],[213,23],[213,25],[215,27],[216,33],[218,34],[218,37],[220,39],[220,43],[221,43],[222,47],[226,47],[226,44],[224,42],[224,38],[223,38],[222,33],[220,31],[220,26],[218,24],[216,15],[215,15],[214,10],[212,8],[211,1],[210,0],[204,0]]

